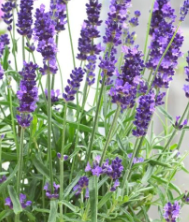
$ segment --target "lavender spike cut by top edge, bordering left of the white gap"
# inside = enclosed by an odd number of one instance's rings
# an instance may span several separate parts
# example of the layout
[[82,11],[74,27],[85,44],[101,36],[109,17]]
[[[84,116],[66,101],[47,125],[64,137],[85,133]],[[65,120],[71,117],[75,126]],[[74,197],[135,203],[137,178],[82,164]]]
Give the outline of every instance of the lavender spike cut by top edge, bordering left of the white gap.
[[57,32],[65,30],[66,21],[66,2],[64,0],[51,0],[50,15],[55,21],[55,30]]

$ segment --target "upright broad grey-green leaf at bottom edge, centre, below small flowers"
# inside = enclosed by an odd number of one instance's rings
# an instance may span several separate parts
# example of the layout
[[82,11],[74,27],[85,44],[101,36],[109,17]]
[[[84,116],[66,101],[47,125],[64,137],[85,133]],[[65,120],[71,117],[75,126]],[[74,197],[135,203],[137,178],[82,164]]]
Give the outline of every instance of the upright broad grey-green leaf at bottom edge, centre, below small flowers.
[[89,180],[89,196],[91,206],[91,221],[97,222],[97,203],[98,203],[98,192],[97,192],[97,177],[93,176]]

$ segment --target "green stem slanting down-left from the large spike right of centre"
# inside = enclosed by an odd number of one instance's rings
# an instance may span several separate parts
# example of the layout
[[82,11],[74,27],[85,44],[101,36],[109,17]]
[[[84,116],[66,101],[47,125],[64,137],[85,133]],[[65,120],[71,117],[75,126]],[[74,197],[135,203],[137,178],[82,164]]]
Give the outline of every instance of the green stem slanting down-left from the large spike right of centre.
[[109,146],[109,143],[112,139],[112,133],[114,131],[114,128],[115,128],[115,125],[117,123],[117,119],[119,117],[119,114],[120,114],[120,110],[121,110],[121,107],[118,106],[117,109],[116,109],[116,113],[114,115],[114,119],[113,119],[113,122],[112,122],[112,125],[109,129],[109,132],[108,132],[108,136],[107,136],[107,140],[106,140],[106,143],[105,143],[105,146],[104,146],[104,150],[103,150],[103,153],[102,153],[102,157],[100,159],[100,165],[102,165],[103,161],[104,161],[104,158],[105,158],[105,155],[106,155],[106,152],[107,152],[107,149],[108,149],[108,146]]

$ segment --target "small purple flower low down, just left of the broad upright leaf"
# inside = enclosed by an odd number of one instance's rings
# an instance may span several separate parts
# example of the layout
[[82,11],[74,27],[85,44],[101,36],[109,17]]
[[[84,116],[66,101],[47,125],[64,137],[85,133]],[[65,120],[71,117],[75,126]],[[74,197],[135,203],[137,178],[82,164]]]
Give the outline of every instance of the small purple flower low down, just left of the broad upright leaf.
[[89,198],[89,179],[88,177],[84,176],[79,179],[75,187],[73,188],[73,191],[75,192],[75,195],[78,196],[80,193],[85,189],[85,198]]

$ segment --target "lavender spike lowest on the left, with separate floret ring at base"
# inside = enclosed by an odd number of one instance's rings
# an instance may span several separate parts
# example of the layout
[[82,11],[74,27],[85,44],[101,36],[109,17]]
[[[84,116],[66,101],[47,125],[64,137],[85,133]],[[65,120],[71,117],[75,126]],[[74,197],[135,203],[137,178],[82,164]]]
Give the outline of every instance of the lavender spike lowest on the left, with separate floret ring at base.
[[24,62],[24,68],[20,72],[22,80],[20,81],[20,90],[17,92],[17,97],[20,102],[18,111],[21,115],[17,115],[18,123],[22,127],[28,127],[32,117],[28,113],[34,112],[36,109],[36,101],[38,100],[38,89],[36,87],[36,69],[38,66],[32,62]]

